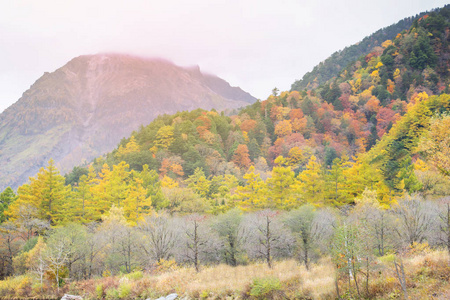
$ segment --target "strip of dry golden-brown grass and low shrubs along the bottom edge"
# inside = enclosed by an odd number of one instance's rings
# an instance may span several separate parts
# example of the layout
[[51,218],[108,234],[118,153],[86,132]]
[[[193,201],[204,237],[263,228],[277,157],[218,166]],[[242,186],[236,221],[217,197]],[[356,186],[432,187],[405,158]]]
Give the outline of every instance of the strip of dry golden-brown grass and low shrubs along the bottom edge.
[[[358,274],[361,299],[401,299],[404,292],[395,261],[404,265],[406,292],[410,299],[450,298],[450,257],[447,251],[412,249],[401,258],[387,255],[371,264],[369,281]],[[401,276],[401,272],[400,272]],[[278,261],[273,268],[264,263],[245,266],[177,266],[164,261],[152,272],[135,271],[67,283],[59,292],[47,282],[43,286],[32,274],[0,282],[3,299],[48,299],[64,293],[84,299],[156,299],[177,293],[184,299],[358,299],[354,279],[338,272],[330,259],[322,259],[307,270],[295,260]]]

